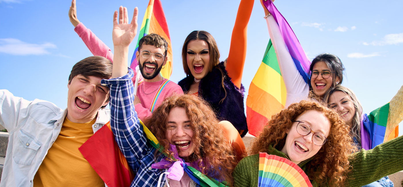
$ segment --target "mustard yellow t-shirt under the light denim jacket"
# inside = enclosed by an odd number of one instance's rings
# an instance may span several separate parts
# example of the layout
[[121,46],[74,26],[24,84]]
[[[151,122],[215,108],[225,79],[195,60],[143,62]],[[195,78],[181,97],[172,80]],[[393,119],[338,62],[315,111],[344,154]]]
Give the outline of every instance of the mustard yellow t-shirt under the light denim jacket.
[[62,129],[33,178],[33,186],[105,186],[78,148],[93,135],[92,125],[64,118]]

